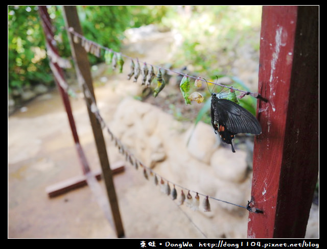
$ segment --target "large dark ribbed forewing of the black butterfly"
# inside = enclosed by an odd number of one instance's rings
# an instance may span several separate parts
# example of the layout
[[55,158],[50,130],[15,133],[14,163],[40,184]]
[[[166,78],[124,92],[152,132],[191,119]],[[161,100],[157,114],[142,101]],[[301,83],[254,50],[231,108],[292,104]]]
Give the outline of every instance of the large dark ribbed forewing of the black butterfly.
[[222,122],[227,130],[232,133],[261,134],[261,126],[258,120],[240,105],[228,99],[216,98],[212,103],[214,109],[214,120]]

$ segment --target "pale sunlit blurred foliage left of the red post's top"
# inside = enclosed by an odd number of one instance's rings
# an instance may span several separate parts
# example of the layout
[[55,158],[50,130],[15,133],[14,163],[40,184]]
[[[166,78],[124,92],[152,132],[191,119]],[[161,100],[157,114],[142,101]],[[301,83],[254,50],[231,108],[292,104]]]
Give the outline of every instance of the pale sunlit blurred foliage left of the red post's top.
[[249,43],[259,49],[260,6],[175,6],[162,18],[176,36],[176,61],[208,78],[230,73],[236,49]]

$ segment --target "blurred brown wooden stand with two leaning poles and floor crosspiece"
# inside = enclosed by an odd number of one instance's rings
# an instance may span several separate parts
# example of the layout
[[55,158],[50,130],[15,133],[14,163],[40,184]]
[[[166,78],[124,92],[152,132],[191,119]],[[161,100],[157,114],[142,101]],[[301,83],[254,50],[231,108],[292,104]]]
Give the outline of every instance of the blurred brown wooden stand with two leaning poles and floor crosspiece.
[[[73,27],[74,30],[76,30],[78,33],[82,34],[82,30],[80,27],[78,15],[76,6],[64,6],[64,16],[65,16],[65,22],[66,27]],[[45,40],[46,45],[52,49],[53,53],[56,53],[58,55],[57,49],[55,45],[53,44],[53,31],[52,31],[52,25],[51,25],[51,19],[48,13],[48,10],[46,6],[39,6],[39,14],[41,16],[42,20],[42,26],[45,33]],[[77,77],[79,80],[83,81],[87,85],[88,90],[90,91],[92,98],[95,98],[94,90],[92,86],[92,78],[90,73],[90,65],[87,59],[87,54],[85,52],[85,49],[80,45],[73,42],[71,34],[68,33],[69,42],[71,44],[72,48],[72,54],[75,61],[76,71],[77,71]],[[52,62],[51,62],[52,63]],[[101,171],[98,172],[91,172],[90,168],[88,166],[86,157],[84,155],[84,152],[82,150],[82,147],[79,143],[79,138],[75,126],[74,117],[72,114],[71,105],[69,103],[69,98],[65,90],[62,88],[60,84],[60,79],[63,79],[63,72],[62,69],[58,66],[56,62],[52,63],[54,66],[53,71],[55,70],[55,81],[57,84],[57,87],[59,89],[59,92],[61,94],[64,107],[68,116],[69,125],[71,126],[73,138],[75,141],[76,150],[78,152],[78,156],[82,165],[82,170],[84,175],[78,176],[72,179],[68,179],[64,182],[60,182],[54,185],[49,186],[46,188],[46,192],[48,192],[48,195],[50,197],[56,196],[58,194],[62,194],[64,192],[67,192],[69,190],[75,189],[77,187],[81,187],[84,185],[88,185],[91,189],[92,193],[96,196],[96,199],[100,205],[100,207],[103,209],[106,218],[109,220],[110,223],[113,223],[113,227],[115,228],[116,235],[119,238],[124,237],[124,229],[123,229],[123,223],[121,220],[120,212],[119,212],[119,206],[118,206],[118,200],[116,197],[114,185],[113,185],[113,174],[122,172],[124,170],[124,166],[120,166],[112,170],[109,165],[108,155],[106,151],[106,145],[102,134],[101,124],[98,122],[96,116],[94,113],[90,111],[90,108],[87,108],[88,115],[92,127],[92,131],[94,134],[97,151],[100,159],[101,164]],[[84,92],[85,94],[85,92]],[[85,95],[84,95],[85,96]],[[90,100],[85,97],[87,106],[90,106]],[[106,192],[108,200],[104,200],[102,189],[97,182],[97,180],[100,179],[100,176],[103,176],[103,180],[105,182],[106,186]],[[111,212],[110,212],[111,211]],[[113,220],[112,220],[113,218]]]

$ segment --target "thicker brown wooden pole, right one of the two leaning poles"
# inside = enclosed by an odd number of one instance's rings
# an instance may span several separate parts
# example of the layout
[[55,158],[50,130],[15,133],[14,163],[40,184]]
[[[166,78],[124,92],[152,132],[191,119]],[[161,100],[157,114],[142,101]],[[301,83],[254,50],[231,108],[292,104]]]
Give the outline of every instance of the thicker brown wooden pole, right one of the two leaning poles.
[[[63,13],[65,18],[66,28],[74,28],[79,34],[83,34],[82,28],[79,22],[76,6],[63,6]],[[87,53],[80,43],[75,43],[71,33],[68,32],[69,43],[71,44],[72,54],[75,61],[75,67],[78,74],[78,79],[82,80],[87,85],[93,99],[95,98],[94,89],[92,85],[92,78],[90,73],[90,65],[87,58]],[[85,92],[84,92],[85,94]],[[87,106],[91,104],[91,100],[85,96],[85,101],[88,102]],[[118,199],[114,189],[112,170],[110,169],[108,155],[106,151],[106,144],[103,138],[101,124],[97,120],[94,113],[88,108],[88,115],[95,138],[100,164],[102,168],[103,179],[106,185],[109,204],[111,207],[111,213],[114,221],[116,234],[118,237],[124,237],[123,223],[119,211]]]

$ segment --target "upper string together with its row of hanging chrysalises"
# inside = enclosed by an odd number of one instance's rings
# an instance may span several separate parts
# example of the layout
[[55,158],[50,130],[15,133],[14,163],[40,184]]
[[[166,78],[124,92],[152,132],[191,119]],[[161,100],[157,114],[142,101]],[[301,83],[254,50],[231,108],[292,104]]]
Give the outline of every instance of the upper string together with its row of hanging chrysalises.
[[[130,59],[130,61],[131,61],[131,65],[130,65],[131,70],[130,70],[130,73],[128,74],[128,80],[130,80],[131,77],[134,75],[134,82],[136,82],[137,78],[142,73],[142,75],[143,75],[142,85],[145,85],[146,87],[150,86],[152,80],[154,79],[154,77],[156,75],[154,73],[154,70],[153,70],[153,68],[155,67],[158,70],[157,77],[159,79],[160,79],[161,75],[158,76],[158,74],[161,74],[161,70],[165,70],[165,71],[169,71],[169,72],[172,72],[172,73],[179,74],[180,76],[183,76],[183,77],[186,77],[186,78],[189,78],[189,79],[190,78],[194,79],[196,82],[202,81],[202,82],[218,85],[218,86],[221,86],[223,88],[227,88],[227,89],[230,89],[230,90],[233,90],[233,91],[238,91],[238,92],[241,93],[238,96],[238,98],[242,98],[245,95],[250,95],[252,97],[255,97],[255,98],[258,98],[258,99],[261,99],[261,100],[267,102],[267,100],[265,98],[263,98],[258,92],[244,91],[244,90],[232,87],[232,86],[226,86],[226,85],[223,85],[223,84],[220,84],[220,83],[217,83],[217,82],[215,83],[215,82],[207,81],[204,78],[195,77],[195,76],[192,76],[190,74],[182,73],[182,72],[170,69],[170,68],[165,68],[165,67],[158,66],[158,65],[152,65],[152,64],[147,63],[146,61],[141,61],[138,58],[133,58],[133,57],[124,55],[124,54],[122,54],[120,52],[115,52],[115,51],[113,51],[112,48],[105,47],[105,46],[103,46],[103,45],[101,45],[101,44],[99,44],[99,43],[97,43],[95,41],[89,40],[85,36],[77,33],[74,30],[74,28],[72,28],[72,27],[67,28],[67,31],[73,35],[74,42],[75,43],[81,42],[81,45],[85,48],[85,51],[88,52],[88,53],[91,53],[91,54],[93,54],[93,55],[95,55],[97,57],[100,57],[101,56],[101,49],[104,49],[104,51],[105,51],[104,52],[105,60],[106,60],[106,62],[108,64],[110,64],[110,63],[112,64],[113,69],[115,69],[117,66],[119,66],[119,71],[122,72],[122,67],[123,67],[123,64],[124,64],[123,57],[125,57],[127,59]],[[136,61],[136,63],[134,61]],[[143,64],[142,68],[139,65],[139,63]],[[149,69],[149,67],[150,67],[150,69]],[[149,78],[148,78],[148,81],[146,83],[146,78],[147,78],[148,75],[149,75]],[[156,96],[159,93],[159,91],[162,90],[162,88],[164,88],[164,86],[165,86],[165,83],[160,83],[160,84],[161,85],[157,86],[157,88],[154,90],[154,92],[155,92],[154,96]],[[161,87],[161,89],[160,89],[160,87]],[[198,100],[198,96],[195,96],[195,99],[192,99],[193,96],[188,95],[188,97],[190,97],[191,100],[194,100],[194,101],[197,101],[198,103],[200,103],[199,100]],[[185,103],[186,103],[186,99],[185,99]]]

